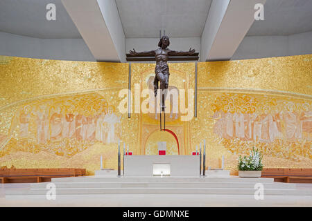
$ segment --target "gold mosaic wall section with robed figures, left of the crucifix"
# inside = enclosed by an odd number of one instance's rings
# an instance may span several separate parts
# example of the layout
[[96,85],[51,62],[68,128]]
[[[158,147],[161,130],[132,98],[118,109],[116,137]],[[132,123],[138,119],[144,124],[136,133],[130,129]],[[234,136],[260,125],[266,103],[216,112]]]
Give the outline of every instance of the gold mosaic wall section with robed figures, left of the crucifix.
[[0,57],[0,73],[0,166],[116,168],[128,64]]

